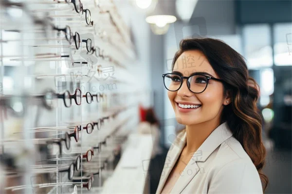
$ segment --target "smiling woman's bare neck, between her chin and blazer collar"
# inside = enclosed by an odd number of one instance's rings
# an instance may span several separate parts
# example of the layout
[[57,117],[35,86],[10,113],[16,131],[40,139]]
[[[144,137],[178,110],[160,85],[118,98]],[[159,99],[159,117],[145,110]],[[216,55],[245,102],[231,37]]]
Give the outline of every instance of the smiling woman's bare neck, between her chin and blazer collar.
[[185,149],[187,153],[196,152],[198,148],[203,144],[207,137],[220,125],[220,121],[217,119],[199,123],[196,125],[185,126],[186,130],[186,145]]

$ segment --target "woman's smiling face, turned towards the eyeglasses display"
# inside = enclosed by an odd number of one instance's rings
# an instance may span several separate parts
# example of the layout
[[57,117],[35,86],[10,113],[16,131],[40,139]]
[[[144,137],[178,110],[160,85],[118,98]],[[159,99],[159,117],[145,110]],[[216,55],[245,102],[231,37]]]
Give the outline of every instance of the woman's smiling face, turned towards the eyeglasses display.
[[[207,76],[219,78],[207,58],[200,50],[184,51],[177,59],[173,73],[188,77],[192,73],[202,72]],[[209,80],[207,88],[200,94],[191,92],[183,79],[181,88],[175,92],[168,91],[168,97],[174,109],[177,121],[183,125],[195,125],[214,119],[220,121],[223,105],[230,103],[230,98],[224,97],[223,84],[220,81]],[[198,108],[181,108],[183,105],[199,105]],[[197,106],[196,106],[197,107]]]

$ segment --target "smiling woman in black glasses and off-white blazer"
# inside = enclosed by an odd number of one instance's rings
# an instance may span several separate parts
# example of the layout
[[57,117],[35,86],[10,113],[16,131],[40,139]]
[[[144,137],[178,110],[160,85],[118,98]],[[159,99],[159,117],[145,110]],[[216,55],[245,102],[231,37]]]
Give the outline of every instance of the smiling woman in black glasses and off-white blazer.
[[[191,59],[198,60],[186,64]],[[265,190],[268,178],[261,173],[266,151],[259,91],[243,57],[217,39],[183,39],[172,70],[163,74],[164,86],[185,129],[167,153],[170,167],[156,194],[262,194],[261,181]],[[204,172],[180,173],[198,168]]]

